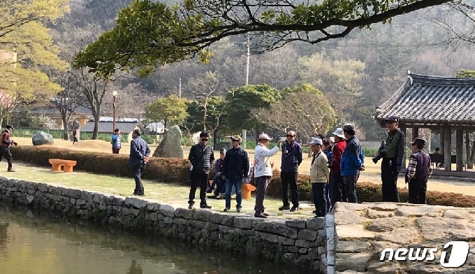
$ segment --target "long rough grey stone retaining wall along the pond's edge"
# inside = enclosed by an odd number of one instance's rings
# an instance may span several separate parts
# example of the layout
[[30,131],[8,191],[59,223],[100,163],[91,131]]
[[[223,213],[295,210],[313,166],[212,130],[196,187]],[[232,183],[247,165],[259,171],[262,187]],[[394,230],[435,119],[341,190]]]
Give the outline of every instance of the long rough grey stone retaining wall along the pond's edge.
[[[0,178],[0,201],[193,244],[233,250],[326,273],[326,219],[257,219],[209,210],[173,208],[137,198]],[[333,235],[333,234],[332,234]]]

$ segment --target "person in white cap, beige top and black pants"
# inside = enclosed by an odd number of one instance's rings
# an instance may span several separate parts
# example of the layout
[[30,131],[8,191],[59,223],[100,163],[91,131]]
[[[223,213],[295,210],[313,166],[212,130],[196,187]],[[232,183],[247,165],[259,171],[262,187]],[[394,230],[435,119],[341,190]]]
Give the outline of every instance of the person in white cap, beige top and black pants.
[[310,149],[314,153],[312,164],[310,164],[310,182],[312,182],[312,193],[315,204],[315,217],[324,217],[327,212],[327,199],[325,186],[330,180],[330,171],[328,170],[328,158],[322,152],[323,141],[319,138],[313,138],[309,143]]

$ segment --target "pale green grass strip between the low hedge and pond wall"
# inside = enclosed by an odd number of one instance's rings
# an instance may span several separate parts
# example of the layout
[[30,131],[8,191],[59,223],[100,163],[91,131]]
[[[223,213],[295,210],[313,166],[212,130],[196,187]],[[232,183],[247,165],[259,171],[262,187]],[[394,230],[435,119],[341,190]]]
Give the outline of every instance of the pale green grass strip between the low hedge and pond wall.
[[[3,166],[5,165],[5,168]],[[91,192],[101,192],[104,194],[116,194],[120,196],[133,196],[135,182],[133,178],[120,178],[109,175],[96,175],[74,171],[73,173],[54,172],[50,168],[42,168],[30,166],[15,162],[13,168],[15,173],[6,172],[6,163],[0,164],[0,176],[6,178],[14,178],[27,180],[30,182],[44,182],[48,185],[61,186],[66,188],[83,189]],[[168,204],[175,208],[188,207],[189,187],[183,187],[173,184],[157,183],[149,180],[142,180],[145,196],[140,199],[154,201],[157,203]],[[211,194],[207,194],[211,195]],[[235,212],[235,200],[231,201],[231,213],[239,215],[254,216],[254,195],[249,200],[242,201],[242,212]],[[199,208],[199,189],[196,191],[195,208]],[[207,203],[212,206],[212,211],[222,212],[224,209],[224,199],[215,200],[207,199]],[[302,210],[299,212],[279,212],[277,208],[282,206],[281,200],[265,199],[264,205],[268,213],[275,217],[298,218],[298,217],[314,217],[312,210],[313,205],[302,202]],[[234,211],[234,212],[233,212]]]

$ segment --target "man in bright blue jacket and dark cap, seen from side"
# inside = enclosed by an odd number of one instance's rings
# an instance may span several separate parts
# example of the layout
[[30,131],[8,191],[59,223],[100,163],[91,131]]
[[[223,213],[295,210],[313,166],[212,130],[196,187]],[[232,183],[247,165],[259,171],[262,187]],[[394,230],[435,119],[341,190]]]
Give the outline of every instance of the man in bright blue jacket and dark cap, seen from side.
[[360,140],[356,138],[355,126],[345,124],[343,134],[346,138],[346,147],[339,163],[340,172],[343,176],[344,192],[349,203],[358,203],[356,196],[356,181],[360,177],[360,171],[365,170],[365,157],[361,150]]

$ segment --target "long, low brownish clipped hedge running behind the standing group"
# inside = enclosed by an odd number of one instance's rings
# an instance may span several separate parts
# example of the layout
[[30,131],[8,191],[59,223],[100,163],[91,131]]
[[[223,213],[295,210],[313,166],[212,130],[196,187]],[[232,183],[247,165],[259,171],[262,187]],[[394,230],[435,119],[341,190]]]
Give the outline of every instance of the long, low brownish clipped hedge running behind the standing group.
[[[67,159],[78,161],[75,170],[89,173],[131,177],[131,168],[127,166],[129,156],[124,154],[110,154],[99,152],[81,152],[56,147],[20,146],[11,147],[14,159],[34,164],[36,166],[51,166],[48,159]],[[173,182],[188,185],[188,171],[190,168],[187,159],[155,158],[149,161],[142,178],[156,182]],[[210,179],[214,178],[214,172]],[[297,178],[300,200],[312,201],[312,183],[310,176],[299,174]],[[381,185],[371,182],[358,182],[356,189],[358,201],[381,201]],[[399,189],[400,200],[408,200],[407,189]],[[282,182],[280,172],[275,169],[272,173],[268,196],[282,198]],[[475,208],[475,196],[468,196],[447,192],[427,192],[427,203],[430,205],[456,206],[461,208]]]

